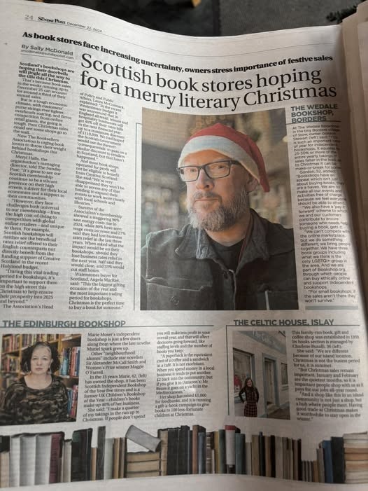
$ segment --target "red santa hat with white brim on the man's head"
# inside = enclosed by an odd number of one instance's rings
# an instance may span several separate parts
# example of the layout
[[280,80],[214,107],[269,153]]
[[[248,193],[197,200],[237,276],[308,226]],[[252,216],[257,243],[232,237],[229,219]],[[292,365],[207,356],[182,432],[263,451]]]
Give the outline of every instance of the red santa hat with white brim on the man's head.
[[269,191],[269,181],[260,148],[248,137],[248,134],[234,130],[234,128],[216,123],[213,126],[199,130],[185,143],[178,165],[190,153],[202,150],[213,150],[226,155],[241,165],[260,182],[264,191]]

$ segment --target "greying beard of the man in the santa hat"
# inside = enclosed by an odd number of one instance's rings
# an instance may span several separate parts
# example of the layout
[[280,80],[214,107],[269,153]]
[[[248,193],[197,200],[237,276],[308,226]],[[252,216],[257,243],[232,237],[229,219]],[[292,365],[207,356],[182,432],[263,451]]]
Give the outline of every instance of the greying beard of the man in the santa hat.
[[194,228],[204,228],[209,232],[220,232],[232,227],[244,216],[249,207],[248,193],[245,189],[227,204],[221,202],[213,212],[197,212],[194,209],[195,201],[201,198],[218,198],[218,195],[211,193],[211,191],[208,193],[197,191],[188,204],[190,224]]

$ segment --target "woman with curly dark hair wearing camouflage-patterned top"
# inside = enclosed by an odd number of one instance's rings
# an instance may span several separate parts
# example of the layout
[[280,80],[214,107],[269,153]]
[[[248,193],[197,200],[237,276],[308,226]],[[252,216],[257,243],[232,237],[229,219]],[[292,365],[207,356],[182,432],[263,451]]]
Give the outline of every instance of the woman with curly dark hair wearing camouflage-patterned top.
[[68,393],[59,369],[59,353],[38,341],[22,351],[24,376],[11,384],[1,404],[1,424],[38,424],[68,421]]

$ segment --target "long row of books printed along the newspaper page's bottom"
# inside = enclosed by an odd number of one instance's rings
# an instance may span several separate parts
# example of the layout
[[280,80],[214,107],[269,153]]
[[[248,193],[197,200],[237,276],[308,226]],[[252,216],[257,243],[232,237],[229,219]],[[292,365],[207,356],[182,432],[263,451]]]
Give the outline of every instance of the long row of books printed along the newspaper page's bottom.
[[[129,441],[143,448],[130,452]],[[125,436],[106,438],[105,427],[0,437],[0,486],[80,480],[137,478],[190,473],[238,473],[323,483],[368,482],[368,434],[323,440],[316,459],[302,459],[302,442],[283,436],[252,435],[238,428],[206,431],[200,425],[165,428],[157,437],[129,427]]]

